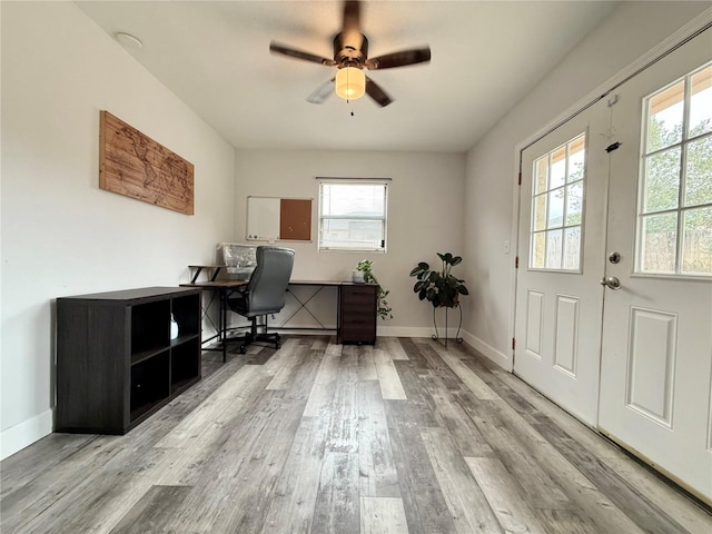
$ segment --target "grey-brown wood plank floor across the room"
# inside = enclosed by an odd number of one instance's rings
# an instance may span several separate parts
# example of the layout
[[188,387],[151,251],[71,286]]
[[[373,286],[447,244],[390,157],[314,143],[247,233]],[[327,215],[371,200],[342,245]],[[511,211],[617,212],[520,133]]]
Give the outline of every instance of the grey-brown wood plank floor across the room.
[[204,357],[126,436],[0,464],[16,533],[705,533],[712,516],[451,342],[291,337]]

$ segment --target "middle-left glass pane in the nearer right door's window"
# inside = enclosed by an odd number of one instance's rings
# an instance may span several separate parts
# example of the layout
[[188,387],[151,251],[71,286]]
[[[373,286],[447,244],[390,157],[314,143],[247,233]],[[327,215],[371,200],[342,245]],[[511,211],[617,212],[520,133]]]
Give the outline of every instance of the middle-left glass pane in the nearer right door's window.
[[680,147],[645,160],[643,212],[675,209],[680,195]]

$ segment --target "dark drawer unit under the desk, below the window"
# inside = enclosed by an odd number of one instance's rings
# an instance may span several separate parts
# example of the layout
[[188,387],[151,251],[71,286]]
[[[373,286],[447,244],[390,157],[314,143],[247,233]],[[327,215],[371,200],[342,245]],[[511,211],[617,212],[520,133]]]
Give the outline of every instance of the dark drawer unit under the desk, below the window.
[[339,343],[376,343],[377,289],[374,284],[339,286]]

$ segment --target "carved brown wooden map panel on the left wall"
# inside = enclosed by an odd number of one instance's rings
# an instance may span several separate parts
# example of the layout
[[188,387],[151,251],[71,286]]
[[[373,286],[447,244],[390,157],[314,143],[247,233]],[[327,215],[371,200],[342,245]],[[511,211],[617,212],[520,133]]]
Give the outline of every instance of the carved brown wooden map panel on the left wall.
[[108,111],[99,128],[99,187],[194,214],[194,165]]

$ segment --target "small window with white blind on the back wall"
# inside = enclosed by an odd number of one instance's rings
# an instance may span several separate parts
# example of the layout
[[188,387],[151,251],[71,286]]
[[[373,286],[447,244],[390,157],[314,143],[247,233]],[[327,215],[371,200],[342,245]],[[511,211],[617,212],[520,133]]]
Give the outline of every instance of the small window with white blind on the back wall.
[[386,250],[388,182],[319,180],[319,250]]

